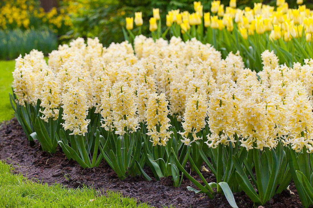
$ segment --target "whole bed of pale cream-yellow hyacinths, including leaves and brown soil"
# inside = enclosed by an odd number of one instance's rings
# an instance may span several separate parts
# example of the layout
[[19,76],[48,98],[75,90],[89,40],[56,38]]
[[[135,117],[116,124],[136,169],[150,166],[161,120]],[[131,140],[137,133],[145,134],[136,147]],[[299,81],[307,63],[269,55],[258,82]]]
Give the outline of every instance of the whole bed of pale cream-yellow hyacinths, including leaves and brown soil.
[[142,35],[107,48],[78,38],[48,63],[33,50],[16,59],[1,159],[157,207],[308,207],[313,61],[261,59],[256,73],[239,52]]

